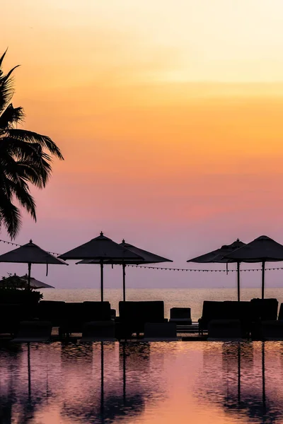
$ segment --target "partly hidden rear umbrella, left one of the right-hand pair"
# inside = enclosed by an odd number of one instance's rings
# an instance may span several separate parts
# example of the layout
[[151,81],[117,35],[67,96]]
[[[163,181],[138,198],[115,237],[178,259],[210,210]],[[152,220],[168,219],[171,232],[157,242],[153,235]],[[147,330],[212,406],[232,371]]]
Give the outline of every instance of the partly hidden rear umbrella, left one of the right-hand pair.
[[220,249],[212,250],[212,252],[208,252],[206,254],[202,254],[199,257],[189,259],[187,262],[196,262],[197,264],[212,264],[212,263],[229,264],[231,262],[236,262],[237,263],[238,302],[240,302],[240,262],[241,261],[227,259],[225,255],[245,245],[246,245],[245,243],[237,239],[235,242],[231,243],[231,245],[223,245],[220,247]]

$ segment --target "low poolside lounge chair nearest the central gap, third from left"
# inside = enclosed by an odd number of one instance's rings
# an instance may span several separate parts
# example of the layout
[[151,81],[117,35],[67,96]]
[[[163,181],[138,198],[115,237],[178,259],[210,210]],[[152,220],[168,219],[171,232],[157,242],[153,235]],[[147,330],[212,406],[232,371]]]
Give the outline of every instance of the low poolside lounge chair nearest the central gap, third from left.
[[177,341],[175,322],[146,322],[144,324],[144,341]]

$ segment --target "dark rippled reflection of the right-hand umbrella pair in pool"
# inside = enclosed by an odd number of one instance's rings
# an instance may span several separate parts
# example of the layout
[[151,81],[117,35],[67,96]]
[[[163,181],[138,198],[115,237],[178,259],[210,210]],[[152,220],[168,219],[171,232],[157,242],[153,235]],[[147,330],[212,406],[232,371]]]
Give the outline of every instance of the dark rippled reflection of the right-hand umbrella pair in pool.
[[[227,413],[255,423],[282,423],[281,376],[274,369],[277,356],[283,353],[282,344],[216,343],[204,352],[204,368],[195,391],[199,401],[221,406]],[[272,364],[268,379],[266,352],[270,352],[268,364]]]

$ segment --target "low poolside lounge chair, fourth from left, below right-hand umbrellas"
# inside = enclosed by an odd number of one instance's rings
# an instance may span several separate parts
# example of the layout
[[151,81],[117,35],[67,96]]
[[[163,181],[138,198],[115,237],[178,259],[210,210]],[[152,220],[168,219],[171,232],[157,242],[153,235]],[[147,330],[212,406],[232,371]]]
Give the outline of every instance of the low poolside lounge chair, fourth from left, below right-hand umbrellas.
[[208,325],[208,341],[241,341],[239,319],[212,319]]

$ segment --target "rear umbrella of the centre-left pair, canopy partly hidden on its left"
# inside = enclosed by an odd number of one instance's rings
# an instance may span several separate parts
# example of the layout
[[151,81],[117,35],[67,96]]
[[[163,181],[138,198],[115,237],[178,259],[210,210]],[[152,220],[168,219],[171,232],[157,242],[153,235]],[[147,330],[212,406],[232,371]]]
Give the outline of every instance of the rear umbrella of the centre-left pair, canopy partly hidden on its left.
[[[105,261],[105,264],[110,265],[122,265],[123,269],[123,300],[125,302],[126,300],[126,266],[127,265],[140,265],[140,264],[158,264],[161,262],[173,262],[171,259],[166,259],[161,256],[158,256],[158,254],[154,254],[151,252],[148,252],[147,250],[140,249],[139,247],[136,247],[134,245],[130,245],[129,243],[126,243],[125,240],[122,240],[122,243],[120,243],[120,246],[125,247],[126,249],[130,250],[134,254],[139,255],[139,257],[135,259],[112,259],[109,261]],[[77,264],[98,264],[97,260],[84,260],[79,261]]]

